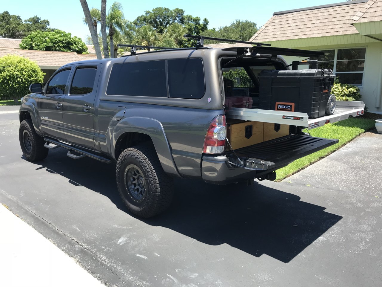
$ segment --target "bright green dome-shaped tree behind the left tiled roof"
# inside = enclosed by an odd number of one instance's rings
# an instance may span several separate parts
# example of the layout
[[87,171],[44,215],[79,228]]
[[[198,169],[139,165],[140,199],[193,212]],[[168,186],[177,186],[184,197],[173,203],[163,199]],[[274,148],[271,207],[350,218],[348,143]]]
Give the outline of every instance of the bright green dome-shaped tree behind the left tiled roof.
[[87,53],[87,47],[81,38],[72,37],[70,33],[61,30],[35,31],[21,40],[20,49]]

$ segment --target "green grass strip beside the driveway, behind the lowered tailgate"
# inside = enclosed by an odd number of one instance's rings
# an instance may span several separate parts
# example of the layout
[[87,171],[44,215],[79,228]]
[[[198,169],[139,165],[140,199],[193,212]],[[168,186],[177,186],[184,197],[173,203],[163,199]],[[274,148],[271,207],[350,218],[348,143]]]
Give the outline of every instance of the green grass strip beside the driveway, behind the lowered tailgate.
[[[326,157],[330,153],[338,150],[346,143],[350,142],[352,139],[365,131],[373,129],[375,124],[374,119],[363,119],[360,117],[349,118],[344,121],[336,122],[334,124],[326,124],[323,127],[317,127],[316,129],[309,130],[312,137],[322,137],[325,139],[338,139],[339,142],[335,145],[327,147],[319,152],[312,153],[306,157],[299,158],[293,161],[288,166],[280,168],[276,171],[277,178],[276,181],[280,181],[297,171],[300,171],[307,166],[311,165],[317,160]],[[304,130],[306,132],[306,130]]]

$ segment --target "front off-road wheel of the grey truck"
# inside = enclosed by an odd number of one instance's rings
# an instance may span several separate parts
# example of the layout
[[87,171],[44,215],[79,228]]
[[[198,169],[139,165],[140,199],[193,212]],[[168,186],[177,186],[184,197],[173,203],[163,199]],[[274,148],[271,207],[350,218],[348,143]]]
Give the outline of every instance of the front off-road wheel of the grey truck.
[[47,157],[49,149],[44,147],[44,138],[36,133],[31,119],[26,119],[21,122],[19,128],[19,141],[26,160],[40,161]]

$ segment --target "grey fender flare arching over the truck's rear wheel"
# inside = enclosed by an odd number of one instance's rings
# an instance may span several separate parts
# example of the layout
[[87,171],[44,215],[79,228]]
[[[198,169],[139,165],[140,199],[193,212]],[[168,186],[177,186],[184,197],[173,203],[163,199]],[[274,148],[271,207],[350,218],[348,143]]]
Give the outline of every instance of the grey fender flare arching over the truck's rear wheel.
[[154,143],[155,151],[157,152],[163,170],[166,173],[173,174],[181,178],[181,175],[176,168],[165,130],[159,121],[148,117],[125,117],[120,121],[117,121],[115,127],[111,129],[110,151],[113,158],[115,158],[115,146],[117,144],[117,140],[122,134],[125,134],[126,132],[146,134]]

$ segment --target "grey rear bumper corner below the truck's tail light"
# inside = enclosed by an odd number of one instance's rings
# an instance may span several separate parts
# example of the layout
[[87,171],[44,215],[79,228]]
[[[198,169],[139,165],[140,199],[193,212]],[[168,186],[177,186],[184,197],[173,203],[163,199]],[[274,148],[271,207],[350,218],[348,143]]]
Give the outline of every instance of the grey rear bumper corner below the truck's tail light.
[[225,155],[217,157],[204,156],[202,158],[202,179],[206,183],[228,184],[252,179],[256,176],[257,171],[231,165]]

